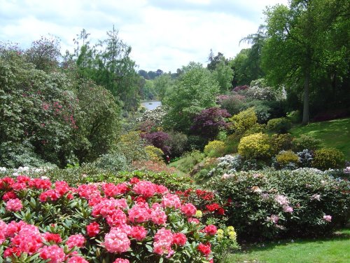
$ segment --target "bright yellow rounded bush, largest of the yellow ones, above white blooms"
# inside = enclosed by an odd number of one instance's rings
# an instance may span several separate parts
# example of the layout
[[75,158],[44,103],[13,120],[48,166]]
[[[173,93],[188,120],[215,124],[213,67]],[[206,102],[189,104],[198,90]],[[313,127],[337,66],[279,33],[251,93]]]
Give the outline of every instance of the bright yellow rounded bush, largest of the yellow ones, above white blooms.
[[271,156],[269,135],[255,133],[242,137],[238,144],[238,153],[246,159],[263,159]]

